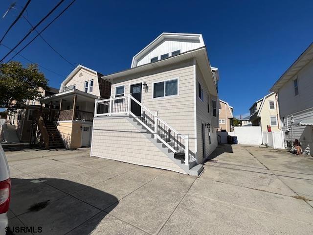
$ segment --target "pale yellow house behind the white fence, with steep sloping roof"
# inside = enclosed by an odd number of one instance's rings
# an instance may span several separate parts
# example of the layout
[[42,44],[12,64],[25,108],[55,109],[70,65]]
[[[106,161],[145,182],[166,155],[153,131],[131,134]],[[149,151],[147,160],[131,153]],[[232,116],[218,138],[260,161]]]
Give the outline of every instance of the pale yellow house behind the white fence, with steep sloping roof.
[[276,93],[272,92],[251,106],[252,126],[261,126],[262,131],[281,131]]

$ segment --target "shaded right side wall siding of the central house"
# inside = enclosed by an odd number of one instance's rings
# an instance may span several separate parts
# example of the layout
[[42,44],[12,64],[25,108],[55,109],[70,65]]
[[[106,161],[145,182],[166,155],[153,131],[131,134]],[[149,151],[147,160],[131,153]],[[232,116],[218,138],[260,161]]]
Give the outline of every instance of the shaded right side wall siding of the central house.
[[[203,102],[199,98],[199,86],[198,82],[201,84],[201,88],[203,89]],[[196,112],[197,112],[197,161],[198,164],[201,164],[203,160],[208,157],[217,147],[217,127],[218,127],[218,118],[219,118],[219,99],[218,97],[209,94],[207,87],[205,85],[205,81],[203,75],[196,65]],[[207,94],[209,94],[209,112],[207,109]],[[217,105],[217,117],[213,117],[212,115],[212,99],[216,100]],[[205,153],[203,154],[202,148],[202,123],[210,123],[211,124],[211,144],[209,144],[209,133],[208,128],[205,126],[204,128],[204,137],[205,137]],[[203,158],[204,156],[204,158]]]

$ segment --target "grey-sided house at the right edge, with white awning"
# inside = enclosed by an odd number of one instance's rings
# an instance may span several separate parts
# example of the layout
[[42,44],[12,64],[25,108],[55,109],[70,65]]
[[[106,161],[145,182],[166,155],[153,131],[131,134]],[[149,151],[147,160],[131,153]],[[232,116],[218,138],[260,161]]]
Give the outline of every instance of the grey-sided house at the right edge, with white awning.
[[279,112],[287,147],[295,139],[313,155],[313,44],[311,44],[270,89],[277,92]]

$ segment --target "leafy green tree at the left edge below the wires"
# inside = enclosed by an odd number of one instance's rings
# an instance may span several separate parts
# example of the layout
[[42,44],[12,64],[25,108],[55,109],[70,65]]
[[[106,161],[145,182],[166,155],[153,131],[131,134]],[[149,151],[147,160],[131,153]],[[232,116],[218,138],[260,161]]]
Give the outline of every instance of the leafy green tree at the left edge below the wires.
[[39,88],[48,90],[47,79],[38,65],[11,61],[0,64],[0,108],[14,111],[21,107],[25,99],[42,96]]

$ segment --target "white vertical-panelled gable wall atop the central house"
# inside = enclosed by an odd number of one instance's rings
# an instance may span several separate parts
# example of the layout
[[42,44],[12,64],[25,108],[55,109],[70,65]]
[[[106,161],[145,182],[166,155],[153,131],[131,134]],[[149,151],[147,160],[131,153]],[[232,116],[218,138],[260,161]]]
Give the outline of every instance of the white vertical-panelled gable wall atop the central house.
[[142,58],[138,59],[137,66],[150,63],[151,59],[156,56],[160,59],[160,56],[166,53],[169,53],[169,56],[171,56],[171,53],[176,50],[180,50],[180,53],[183,53],[199,47],[201,47],[200,40],[164,40],[154,47],[153,50],[148,51]]

